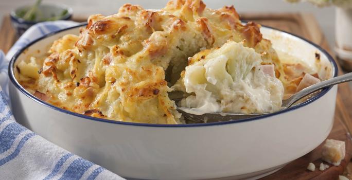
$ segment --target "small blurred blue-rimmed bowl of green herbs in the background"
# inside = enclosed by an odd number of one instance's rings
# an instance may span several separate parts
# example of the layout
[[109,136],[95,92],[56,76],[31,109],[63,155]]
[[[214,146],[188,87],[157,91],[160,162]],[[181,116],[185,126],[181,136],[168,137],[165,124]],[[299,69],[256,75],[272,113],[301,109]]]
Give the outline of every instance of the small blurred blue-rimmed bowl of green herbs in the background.
[[72,8],[65,5],[40,4],[40,2],[37,5],[35,15],[29,18],[24,18],[24,15],[36,5],[22,6],[11,12],[11,24],[18,36],[22,35],[29,27],[36,23],[69,20],[73,14]]

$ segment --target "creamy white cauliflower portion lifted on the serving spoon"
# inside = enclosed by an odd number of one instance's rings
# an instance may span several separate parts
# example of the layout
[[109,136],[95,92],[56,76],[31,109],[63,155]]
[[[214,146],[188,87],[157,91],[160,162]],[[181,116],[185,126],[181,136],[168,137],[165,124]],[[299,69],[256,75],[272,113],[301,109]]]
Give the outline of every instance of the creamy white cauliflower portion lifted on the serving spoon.
[[191,61],[174,86],[189,95],[181,100],[181,106],[204,113],[280,110],[283,84],[272,73],[266,73],[260,55],[253,48],[230,41],[205,54],[195,55],[201,58]]

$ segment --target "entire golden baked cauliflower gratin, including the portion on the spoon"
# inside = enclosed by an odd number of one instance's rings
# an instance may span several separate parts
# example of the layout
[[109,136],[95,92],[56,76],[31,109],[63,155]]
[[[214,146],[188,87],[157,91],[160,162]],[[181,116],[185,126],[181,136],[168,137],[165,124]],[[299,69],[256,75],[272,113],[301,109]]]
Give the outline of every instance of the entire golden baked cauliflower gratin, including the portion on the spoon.
[[46,57],[16,65],[16,79],[62,109],[126,122],[183,123],[178,105],[203,112],[266,113],[319,77],[283,63],[260,25],[233,6],[170,1],[164,9],[126,4],[89,17],[79,36],[56,40]]

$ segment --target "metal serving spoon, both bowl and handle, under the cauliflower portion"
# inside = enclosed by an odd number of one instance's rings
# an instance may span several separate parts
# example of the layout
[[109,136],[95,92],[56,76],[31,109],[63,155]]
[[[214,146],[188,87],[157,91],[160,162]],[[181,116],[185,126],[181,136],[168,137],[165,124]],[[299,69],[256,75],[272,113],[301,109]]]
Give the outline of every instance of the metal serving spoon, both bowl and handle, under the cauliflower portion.
[[[347,73],[342,76],[338,76],[335,78],[331,78],[316,84],[313,84],[309,87],[302,89],[300,92],[292,95],[290,98],[283,100],[283,109],[287,109],[291,107],[295,102],[298,100],[324,88],[327,86],[332,86],[335,84],[340,84],[343,82],[352,81],[352,73]],[[241,120],[250,117],[262,116],[269,113],[264,114],[242,114],[242,113],[222,113],[222,112],[215,112],[215,113],[201,113],[196,110],[192,110],[188,107],[177,107],[177,110],[182,113],[185,119],[197,122],[197,123],[204,123],[204,122],[221,122],[221,121],[229,121],[229,120]]]

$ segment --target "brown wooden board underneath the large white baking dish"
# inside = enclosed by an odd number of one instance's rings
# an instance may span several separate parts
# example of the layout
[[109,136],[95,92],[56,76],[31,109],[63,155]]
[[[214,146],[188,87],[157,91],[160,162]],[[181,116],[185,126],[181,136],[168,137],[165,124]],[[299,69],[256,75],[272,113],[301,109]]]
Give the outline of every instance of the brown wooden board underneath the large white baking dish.
[[[254,21],[262,25],[267,25],[281,29],[284,31],[291,32],[293,34],[304,37],[326,49],[331,55],[332,51],[328,46],[328,43],[316,22],[314,16],[310,14],[242,14],[242,20]],[[74,17],[75,21],[83,22],[85,18]],[[0,29],[0,49],[5,51],[15,42],[16,37],[14,30],[11,27],[9,17],[5,17],[3,25]],[[342,74],[342,70],[339,67],[339,73]],[[338,179],[340,174],[348,176],[352,174],[352,163],[350,158],[352,154],[352,141],[348,132],[352,130],[352,97],[350,95],[350,89],[348,84],[340,84],[336,102],[335,112],[335,123],[332,131],[328,138],[343,140],[346,142],[346,157],[338,167],[331,166],[325,171],[319,171],[319,165],[321,160],[321,146],[314,149],[310,153],[304,155],[292,161],[290,164],[285,166],[283,169],[277,171],[274,174],[263,177],[261,179]],[[314,128],[319,128],[319,124]],[[314,131],[312,128],[312,131]],[[314,172],[308,171],[307,166],[312,162],[317,167]],[[348,165],[348,168],[346,169]],[[349,178],[352,178],[349,177]]]

